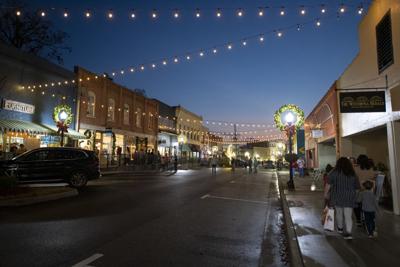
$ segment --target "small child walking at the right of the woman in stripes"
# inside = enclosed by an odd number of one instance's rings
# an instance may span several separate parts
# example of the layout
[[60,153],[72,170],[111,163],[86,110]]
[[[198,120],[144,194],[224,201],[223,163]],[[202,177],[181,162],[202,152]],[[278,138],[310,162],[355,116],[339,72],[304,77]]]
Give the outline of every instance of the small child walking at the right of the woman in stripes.
[[373,238],[375,232],[375,215],[378,212],[378,203],[373,192],[374,184],[371,181],[363,183],[364,191],[361,194],[362,211],[368,237]]

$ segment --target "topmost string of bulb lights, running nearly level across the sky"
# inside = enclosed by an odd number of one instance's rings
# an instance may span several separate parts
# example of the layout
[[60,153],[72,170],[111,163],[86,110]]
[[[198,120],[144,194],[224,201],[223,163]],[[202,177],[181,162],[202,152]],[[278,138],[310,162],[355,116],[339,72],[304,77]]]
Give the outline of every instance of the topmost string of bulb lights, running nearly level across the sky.
[[[179,20],[182,18],[190,17],[195,20],[203,19],[204,17],[214,17],[217,19],[222,19],[225,16],[232,15],[238,18],[245,16],[256,16],[265,17],[269,14],[276,14],[279,16],[286,16],[288,14],[297,14],[300,16],[306,16],[313,11],[317,11],[321,15],[327,14],[329,12],[351,12],[354,10],[356,14],[362,15],[364,12],[364,6],[368,4],[368,1],[363,1],[359,4],[353,4],[351,1],[341,1],[338,4],[316,4],[307,5],[301,4],[297,6],[258,6],[252,8],[242,8],[242,7],[216,7],[216,8],[173,8],[173,9],[159,9],[153,8],[151,10],[145,10],[141,8],[131,8],[125,11],[115,11],[115,9],[101,10],[96,8],[84,8],[80,11],[72,11],[70,8],[39,8],[36,13],[39,17],[48,17],[51,15],[57,16],[64,20],[68,20],[74,17],[81,17],[85,20],[91,20],[95,17],[101,17],[106,20],[115,20],[117,18],[125,18],[131,21],[138,19],[148,18],[150,20],[158,20],[161,17],[169,17],[173,20]],[[1,7],[12,8],[15,11],[17,17],[24,15],[24,11],[19,7]]]

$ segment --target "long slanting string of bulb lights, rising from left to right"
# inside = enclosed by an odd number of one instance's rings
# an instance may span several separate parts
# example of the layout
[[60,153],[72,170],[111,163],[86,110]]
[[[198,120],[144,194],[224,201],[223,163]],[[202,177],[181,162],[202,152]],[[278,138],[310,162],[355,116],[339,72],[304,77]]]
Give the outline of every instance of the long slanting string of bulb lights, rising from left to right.
[[[343,13],[345,12],[345,9]],[[339,14],[339,13],[338,13]],[[253,34],[250,36],[245,36],[242,38],[239,38],[234,41],[229,41],[223,44],[216,44],[209,46],[207,48],[202,48],[202,49],[196,49],[194,51],[187,51],[184,53],[176,54],[174,56],[169,56],[169,57],[163,57],[157,60],[152,60],[149,62],[137,64],[137,65],[132,65],[129,67],[124,67],[119,69],[119,71],[112,71],[111,74],[107,74],[106,72],[103,74],[94,74],[94,75],[87,75],[86,77],[82,77],[79,79],[73,79],[73,80],[63,80],[63,81],[47,81],[47,82],[42,82],[38,84],[26,84],[26,85],[21,85],[21,89],[28,89],[32,92],[35,92],[35,89],[44,89],[47,87],[57,87],[57,86],[68,86],[70,84],[76,84],[76,83],[81,83],[84,81],[91,81],[91,80],[99,80],[102,78],[109,78],[109,77],[123,77],[127,74],[134,74],[138,72],[144,72],[146,70],[155,70],[158,68],[164,68],[168,65],[176,65],[179,63],[183,62],[190,62],[194,59],[201,59],[206,57],[207,55],[218,55],[219,53],[225,51],[225,52],[232,52],[235,50],[235,48],[246,48],[249,46],[251,42],[256,43],[256,44],[263,44],[267,40],[268,36],[271,36],[272,38],[276,39],[282,39],[286,33],[288,33],[291,30],[296,30],[296,31],[301,31],[303,30],[306,26],[312,25],[314,28],[321,28],[322,22],[326,21],[328,19],[332,18],[340,18],[339,15],[330,15],[330,16],[325,16],[323,18],[321,17],[316,17],[312,20],[303,22],[303,23],[296,23],[292,24],[286,27],[281,27],[281,28],[275,28],[270,31],[258,33],[258,34]],[[219,123],[219,122],[218,122]]]

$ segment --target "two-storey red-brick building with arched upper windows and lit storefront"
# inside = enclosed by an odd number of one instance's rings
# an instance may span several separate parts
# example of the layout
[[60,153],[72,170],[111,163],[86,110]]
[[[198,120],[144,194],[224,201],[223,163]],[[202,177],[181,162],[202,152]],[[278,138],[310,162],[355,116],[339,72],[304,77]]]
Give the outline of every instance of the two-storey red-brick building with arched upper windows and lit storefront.
[[109,77],[75,68],[79,81],[77,129],[89,139],[79,145],[104,155],[155,151],[158,104],[142,93],[121,86]]

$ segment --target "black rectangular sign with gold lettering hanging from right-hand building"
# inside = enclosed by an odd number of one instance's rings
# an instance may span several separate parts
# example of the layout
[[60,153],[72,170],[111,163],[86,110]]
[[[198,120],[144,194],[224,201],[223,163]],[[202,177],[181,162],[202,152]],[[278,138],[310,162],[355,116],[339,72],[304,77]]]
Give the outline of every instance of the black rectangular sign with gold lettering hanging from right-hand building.
[[340,93],[340,112],[386,112],[385,91]]

